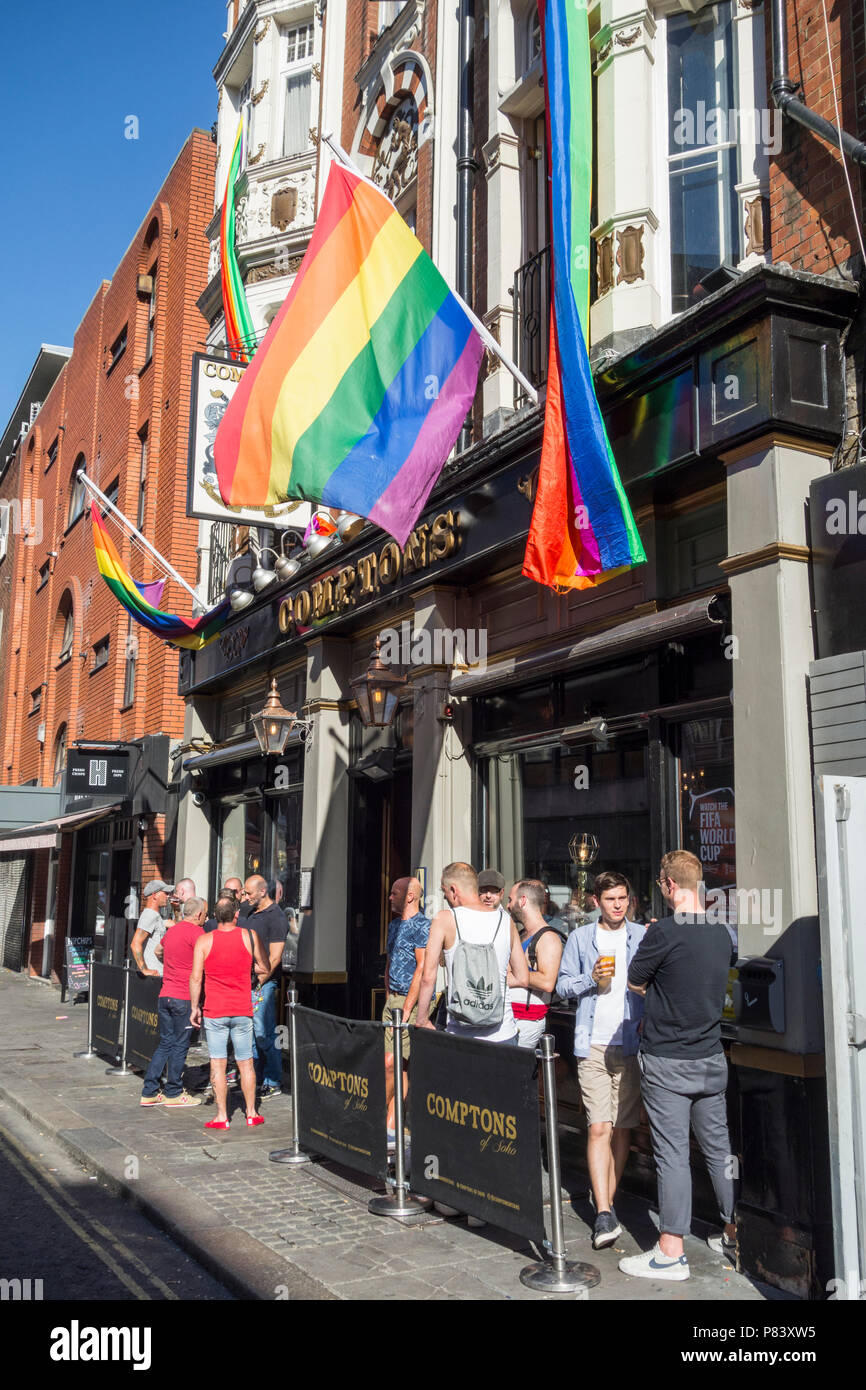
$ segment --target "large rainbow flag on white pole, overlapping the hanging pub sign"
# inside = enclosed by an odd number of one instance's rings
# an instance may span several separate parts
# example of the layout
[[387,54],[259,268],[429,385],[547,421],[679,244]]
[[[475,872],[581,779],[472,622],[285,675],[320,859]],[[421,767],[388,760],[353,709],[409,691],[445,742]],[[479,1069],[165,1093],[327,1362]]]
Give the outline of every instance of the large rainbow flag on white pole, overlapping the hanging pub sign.
[[471,406],[482,345],[393,204],[334,163],[297,277],[217,430],[222,500],[303,498],[400,545]]

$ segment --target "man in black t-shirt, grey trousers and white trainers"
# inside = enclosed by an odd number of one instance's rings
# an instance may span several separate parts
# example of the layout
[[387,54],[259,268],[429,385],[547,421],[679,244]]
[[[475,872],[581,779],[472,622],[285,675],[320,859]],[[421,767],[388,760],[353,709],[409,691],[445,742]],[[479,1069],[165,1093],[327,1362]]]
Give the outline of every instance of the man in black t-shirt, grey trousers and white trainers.
[[673,915],[653,923],[628,967],[628,988],[646,995],[641,1034],[641,1095],[659,1180],[659,1240],[620,1259],[626,1275],[688,1279],[683,1237],[691,1229],[694,1127],[724,1230],[710,1248],[735,1258],[734,1179],[727,1129],[727,1059],[721,1009],[737,954],[724,923],[708,922],[701,860],[687,849],[662,859],[659,888]]

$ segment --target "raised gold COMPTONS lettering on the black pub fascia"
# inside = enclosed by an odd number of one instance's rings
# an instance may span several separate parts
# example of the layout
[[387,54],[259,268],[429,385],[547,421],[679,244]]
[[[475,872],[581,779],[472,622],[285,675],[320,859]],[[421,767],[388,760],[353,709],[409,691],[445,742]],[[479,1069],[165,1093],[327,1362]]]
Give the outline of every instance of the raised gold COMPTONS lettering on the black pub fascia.
[[386,541],[382,549],[363,555],[336,574],[325,574],[309,589],[299,589],[279,605],[278,626],[285,637],[297,635],[335,613],[354,606],[356,598],[370,598],[391,588],[400,574],[425,570],[436,560],[446,560],[460,548],[460,513],[441,512],[431,524],[417,525],[400,549]]

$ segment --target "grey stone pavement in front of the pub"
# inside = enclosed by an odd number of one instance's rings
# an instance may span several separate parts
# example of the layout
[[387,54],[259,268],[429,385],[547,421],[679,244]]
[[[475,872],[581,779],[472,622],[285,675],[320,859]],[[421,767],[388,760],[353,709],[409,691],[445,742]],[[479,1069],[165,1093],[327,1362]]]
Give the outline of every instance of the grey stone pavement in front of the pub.
[[[140,1076],[106,1076],[101,1059],[72,1054],[86,1042],[86,1005],[60,1004],[43,981],[0,970],[0,1095],[56,1136],[114,1190],[124,1191],[172,1238],[240,1297],[338,1300],[741,1301],[778,1298],[738,1275],[696,1237],[687,1241],[692,1277],[664,1284],[628,1279],[623,1254],[655,1240],[645,1202],[623,1197],[624,1234],[592,1251],[585,1177],[564,1173],[570,1259],[595,1265],[588,1293],[545,1295],[520,1283],[538,1258],[521,1237],[495,1226],[468,1229],[431,1215],[402,1226],[367,1211],[382,1184],[331,1163],[288,1168],[268,1161],[291,1136],[291,1098],[264,1102],[265,1125],[210,1136],[209,1106],[139,1106]],[[190,1052],[188,1084],[204,1086],[207,1058]],[[234,1098],[242,1109],[240,1094]],[[229,1106],[232,1104],[229,1101]],[[577,1208],[577,1209],[575,1209]]]

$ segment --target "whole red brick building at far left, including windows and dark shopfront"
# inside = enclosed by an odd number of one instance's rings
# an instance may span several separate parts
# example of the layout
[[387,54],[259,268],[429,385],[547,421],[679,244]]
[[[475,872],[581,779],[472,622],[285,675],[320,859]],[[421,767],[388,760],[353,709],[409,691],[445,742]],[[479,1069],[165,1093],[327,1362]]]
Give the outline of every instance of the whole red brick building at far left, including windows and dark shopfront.
[[[0,778],[18,790],[6,792],[7,830],[22,824],[15,798],[33,802],[19,788],[54,790],[53,806],[43,798],[47,815],[0,840],[3,959],[35,974],[58,970],[67,933],[122,954],[142,883],[175,870],[167,784],[170,744],[183,727],[177,652],[132,623],[100,578],[76,473],[86,470],[195,585],[186,441],[190,359],[206,331],[196,299],[207,278],[213,177],[213,142],[193,131],[114,277],[96,291],[71,354],[42,350],[26,430],[0,478],[0,499],[14,503],[0,560]],[[28,507],[25,534],[15,517]],[[120,527],[111,531],[131,573],[156,577]],[[174,582],[165,600],[189,602]],[[111,813],[106,795],[82,801],[65,785],[76,744],[126,751],[128,792]]]

